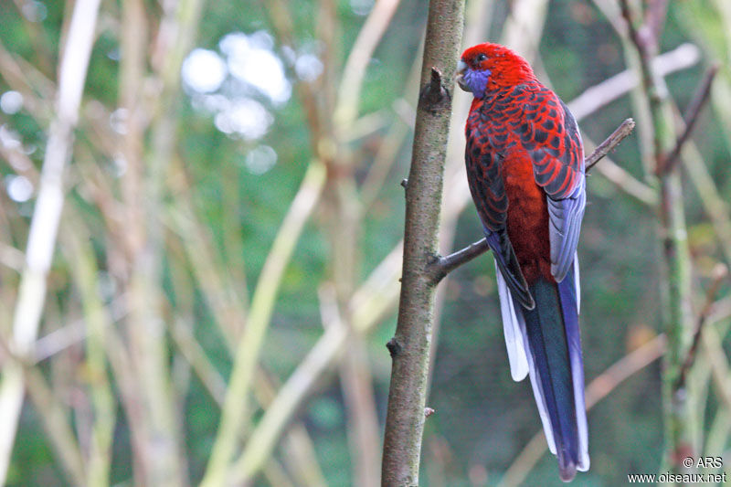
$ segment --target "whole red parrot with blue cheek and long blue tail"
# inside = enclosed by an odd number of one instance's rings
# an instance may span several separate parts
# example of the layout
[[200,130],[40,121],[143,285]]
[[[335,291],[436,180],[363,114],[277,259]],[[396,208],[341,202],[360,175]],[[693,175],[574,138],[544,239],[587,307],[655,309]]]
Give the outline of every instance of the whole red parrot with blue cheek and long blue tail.
[[587,471],[577,243],[587,202],[577,122],[513,50],[466,49],[455,77],[473,95],[467,180],[492,250],[515,381],[530,376],[561,480]]

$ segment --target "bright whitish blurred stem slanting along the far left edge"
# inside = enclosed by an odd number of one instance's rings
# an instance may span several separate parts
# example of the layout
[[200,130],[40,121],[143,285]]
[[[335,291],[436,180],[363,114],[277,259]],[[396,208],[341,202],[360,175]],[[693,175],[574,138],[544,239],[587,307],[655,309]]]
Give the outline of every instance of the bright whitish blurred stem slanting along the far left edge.
[[[79,0],[74,5],[69,37],[61,55],[56,117],[48,132],[40,188],[27,240],[26,266],[13,317],[12,346],[18,355],[25,355],[36,340],[46,301],[46,277],[63,206],[63,172],[71,154],[72,131],[79,117],[99,4],[100,0]],[[5,367],[0,382],[0,483],[5,482],[23,405],[22,376],[20,365],[11,363]]]

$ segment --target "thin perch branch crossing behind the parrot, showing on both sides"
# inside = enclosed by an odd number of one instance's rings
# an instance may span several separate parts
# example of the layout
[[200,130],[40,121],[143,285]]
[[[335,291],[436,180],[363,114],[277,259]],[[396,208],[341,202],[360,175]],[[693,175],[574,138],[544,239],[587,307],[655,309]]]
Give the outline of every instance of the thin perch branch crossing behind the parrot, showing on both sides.
[[[597,147],[594,152],[584,160],[587,167],[587,173],[592,167],[594,167],[594,165],[599,163],[602,157],[609,154],[622,140],[624,140],[625,137],[630,135],[632,129],[634,129],[634,121],[632,119],[627,119],[624,122],[621,122],[617,130],[612,132],[611,135],[609,135],[603,143],[600,143],[599,147]],[[487,245],[487,240],[482,238],[481,240],[471,243],[468,247],[457,250],[446,257],[437,256],[436,259],[429,264],[432,279],[434,282],[441,281],[444,276],[449,274],[452,270],[455,270],[462,264],[482,255],[488,249],[490,249],[490,247]]]

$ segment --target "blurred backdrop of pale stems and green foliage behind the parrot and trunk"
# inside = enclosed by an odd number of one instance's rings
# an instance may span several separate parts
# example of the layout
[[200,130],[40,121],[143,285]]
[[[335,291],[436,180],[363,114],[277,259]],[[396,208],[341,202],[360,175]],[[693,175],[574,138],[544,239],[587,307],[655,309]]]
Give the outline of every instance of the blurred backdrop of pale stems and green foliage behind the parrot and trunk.
[[[427,6],[0,5],[0,483],[379,483]],[[662,461],[662,252],[625,30],[614,0],[466,7],[465,47],[528,58],[587,152],[639,124],[588,177],[578,485]],[[678,113],[721,65],[682,177],[694,317],[710,304],[693,435],[723,456],[731,298],[727,281],[706,293],[731,262],[731,6],[670,2],[659,51]],[[469,100],[453,94],[443,253],[482,237]],[[495,291],[490,256],[440,284],[422,485],[561,484],[530,386],[510,378]]]

